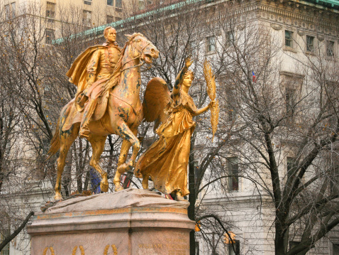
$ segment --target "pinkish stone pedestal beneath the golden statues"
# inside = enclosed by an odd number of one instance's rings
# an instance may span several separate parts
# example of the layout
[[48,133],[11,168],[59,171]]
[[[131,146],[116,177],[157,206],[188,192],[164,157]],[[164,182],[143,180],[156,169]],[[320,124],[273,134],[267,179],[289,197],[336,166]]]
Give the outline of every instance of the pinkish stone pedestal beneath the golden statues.
[[135,189],[65,200],[35,215],[31,254],[188,255],[188,206]]

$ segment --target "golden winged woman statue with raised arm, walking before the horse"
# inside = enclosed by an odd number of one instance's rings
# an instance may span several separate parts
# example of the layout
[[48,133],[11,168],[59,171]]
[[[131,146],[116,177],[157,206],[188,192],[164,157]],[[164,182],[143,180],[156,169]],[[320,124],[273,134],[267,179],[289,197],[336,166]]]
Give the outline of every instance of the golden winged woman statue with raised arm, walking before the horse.
[[187,166],[191,134],[195,128],[193,116],[216,106],[213,100],[208,106],[196,109],[188,94],[194,80],[193,72],[188,70],[191,63],[187,58],[185,66],[177,75],[172,93],[160,78],[153,78],[148,83],[144,106],[148,109],[151,106],[152,110],[145,109],[144,116],[147,121],[156,121],[155,125],[162,121],[156,131],[160,137],[140,156],[134,171],[136,177],[143,178],[144,189],[148,188],[150,177],[157,190],[165,194],[175,192],[177,200],[184,200],[184,196],[189,194]]

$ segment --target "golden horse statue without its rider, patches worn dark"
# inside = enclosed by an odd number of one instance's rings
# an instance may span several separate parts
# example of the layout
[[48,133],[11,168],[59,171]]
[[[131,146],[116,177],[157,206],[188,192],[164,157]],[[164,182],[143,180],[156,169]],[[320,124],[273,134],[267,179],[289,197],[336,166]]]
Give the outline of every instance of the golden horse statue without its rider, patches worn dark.
[[[108,103],[104,116],[98,121],[89,122],[91,134],[87,140],[91,143],[93,153],[89,165],[95,168],[101,175],[100,188],[103,192],[109,190],[107,173],[99,165],[101,153],[104,151],[105,141],[109,134],[117,134],[123,139],[121,153],[118,159],[118,169],[114,176],[113,183],[116,191],[122,190],[120,185],[121,174],[135,166],[135,158],[140,149],[140,142],[137,138],[138,126],[143,120],[143,106],[140,102],[140,61],[152,63],[152,58],[158,58],[159,51],[140,33],[128,36],[128,41],[121,52],[121,58],[117,65],[121,67],[118,84],[109,89]],[[69,102],[60,114],[60,118],[55,131],[55,136],[51,141],[48,154],[54,155],[60,150],[57,159],[57,181],[55,184],[55,200],[61,200],[60,193],[61,175],[65,167],[67,151],[79,134],[80,123],[74,123],[70,129],[62,130],[65,124],[65,114],[67,109],[74,107],[74,99]],[[126,162],[128,150],[133,147],[132,156]]]

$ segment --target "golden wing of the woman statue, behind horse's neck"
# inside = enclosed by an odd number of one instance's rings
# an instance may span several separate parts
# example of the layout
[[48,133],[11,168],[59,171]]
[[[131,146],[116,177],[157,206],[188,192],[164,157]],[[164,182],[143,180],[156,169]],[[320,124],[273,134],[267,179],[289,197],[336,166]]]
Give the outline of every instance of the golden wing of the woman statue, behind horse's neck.
[[157,129],[159,124],[168,117],[164,109],[171,100],[170,94],[162,78],[155,77],[148,82],[143,99],[143,117],[145,121],[155,121],[153,130]]

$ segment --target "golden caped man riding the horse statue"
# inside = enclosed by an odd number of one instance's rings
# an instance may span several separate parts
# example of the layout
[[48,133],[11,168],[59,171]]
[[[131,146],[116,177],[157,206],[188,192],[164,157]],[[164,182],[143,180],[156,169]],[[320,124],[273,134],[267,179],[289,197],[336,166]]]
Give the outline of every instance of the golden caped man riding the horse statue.
[[116,43],[116,30],[111,26],[104,29],[106,43],[88,48],[74,60],[67,72],[70,82],[77,85],[75,106],[83,112],[80,137],[89,136],[88,124],[97,104],[101,103],[101,92],[111,77],[121,55],[121,48]]

